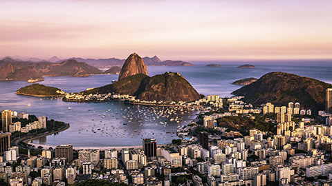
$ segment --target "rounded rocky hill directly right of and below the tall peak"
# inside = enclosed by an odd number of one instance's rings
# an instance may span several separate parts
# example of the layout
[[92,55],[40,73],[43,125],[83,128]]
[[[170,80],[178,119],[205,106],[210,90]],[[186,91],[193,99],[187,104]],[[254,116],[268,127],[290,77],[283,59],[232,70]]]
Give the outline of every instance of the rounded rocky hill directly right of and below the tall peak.
[[145,101],[196,101],[199,93],[179,73],[166,72],[143,79],[138,99]]

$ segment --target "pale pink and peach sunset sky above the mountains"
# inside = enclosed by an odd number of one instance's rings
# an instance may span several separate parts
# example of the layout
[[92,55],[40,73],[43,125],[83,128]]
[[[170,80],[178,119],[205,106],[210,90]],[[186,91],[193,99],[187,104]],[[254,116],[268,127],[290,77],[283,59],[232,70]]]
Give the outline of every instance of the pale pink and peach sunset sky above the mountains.
[[332,59],[331,0],[0,0],[0,56]]

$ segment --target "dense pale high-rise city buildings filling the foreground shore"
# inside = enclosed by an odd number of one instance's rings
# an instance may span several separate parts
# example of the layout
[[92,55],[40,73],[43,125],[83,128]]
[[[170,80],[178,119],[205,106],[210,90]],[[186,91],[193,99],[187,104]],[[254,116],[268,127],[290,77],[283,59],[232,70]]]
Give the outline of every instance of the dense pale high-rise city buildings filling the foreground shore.
[[[4,111],[2,128],[8,131],[0,134],[0,178],[10,185],[33,186],[89,179],[160,186],[332,185],[332,127],[328,122],[318,124],[320,119],[331,116],[330,93],[332,89],[326,90],[326,110],[319,112],[318,118],[313,118],[311,110],[304,110],[300,103],[291,102],[287,107],[266,103],[255,108],[241,97],[233,97],[224,100],[229,105],[228,112],[206,112],[201,126],[194,123],[178,130],[181,144],[157,145],[154,138],[145,138],[141,148],[77,151],[67,144],[44,149],[38,156],[29,153],[27,157],[19,156],[17,147],[10,147],[13,124],[8,119],[11,114]],[[214,95],[201,99],[199,105],[202,103],[214,109],[223,107],[223,99]],[[272,135],[255,128],[245,135],[235,135],[239,132],[226,132],[217,123],[225,116],[268,113],[275,116],[267,118],[275,123]],[[44,126],[43,118],[38,123],[34,125]],[[198,126],[206,131],[195,133]],[[13,128],[16,127],[18,124]],[[211,130],[218,133],[208,133]],[[19,165],[13,166],[15,163]],[[38,172],[39,176],[32,178],[30,172]]]

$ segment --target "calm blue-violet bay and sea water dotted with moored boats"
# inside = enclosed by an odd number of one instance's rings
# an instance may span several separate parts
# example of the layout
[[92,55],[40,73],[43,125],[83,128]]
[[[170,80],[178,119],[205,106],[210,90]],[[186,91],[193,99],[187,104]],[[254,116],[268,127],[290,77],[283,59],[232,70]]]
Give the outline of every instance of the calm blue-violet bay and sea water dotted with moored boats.
[[[237,65],[223,65],[221,68],[208,68],[205,65],[148,67],[148,72],[150,76],[167,71],[180,72],[199,93],[221,96],[230,96],[232,91],[241,87],[230,84],[233,81],[248,77],[259,78],[268,72],[276,71],[290,72],[332,83],[332,67],[268,65],[256,65],[255,69],[236,67]],[[113,79],[118,79],[118,76],[46,77],[45,81],[40,83],[59,87],[65,92],[80,92],[89,87],[107,85]],[[44,145],[62,143],[72,143],[76,147],[141,145],[142,138],[151,136],[154,136],[159,144],[170,143],[173,138],[176,138],[176,135],[169,132],[176,130],[178,125],[186,125],[195,117],[194,112],[183,111],[184,113],[181,114],[181,111],[177,111],[177,114],[171,114],[169,118],[166,118],[165,114],[161,112],[166,108],[128,105],[121,101],[68,103],[15,94],[16,90],[28,84],[26,81],[0,81],[0,110],[27,112],[71,124],[71,127],[64,132],[34,141],[34,143]],[[73,107],[73,110],[68,110],[68,107]],[[169,121],[170,118],[176,116],[182,118],[179,120],[180,123]],[[166,125],[165,122],[167,122]],[[123,125],[124,123],[127,125]]]

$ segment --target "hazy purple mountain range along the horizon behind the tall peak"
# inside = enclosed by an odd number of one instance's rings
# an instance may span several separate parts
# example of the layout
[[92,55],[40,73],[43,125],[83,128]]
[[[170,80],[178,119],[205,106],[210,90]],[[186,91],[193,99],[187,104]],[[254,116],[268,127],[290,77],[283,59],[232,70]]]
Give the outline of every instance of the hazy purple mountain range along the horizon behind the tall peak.
[[[59,59],[57,56],[53,56],[50,59],[24,58],[21,56],[6,56],[3,59],[12,59],[14,61],[25,61],[25,62],[32,62],[32,63],[39,63],[39,62],[59,63],[62,61],[66,61],[66,59]],[[80,57],[72,57],[69,59],[75,59],[78,62],[85,62],[96,68],[111,68],[113,66],[122,66],[125,61],[125,59],[117,59],[117,58],[83,59]],[[153,57],[146,56],[146,57],[143,57],[142,59],[147,66],[193,66],[192,63],[188,63],[185,61],[172,61],[172,60],[161,61],[158,58],[158,56],[153,56]]]

